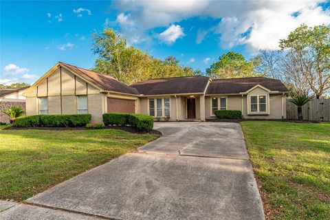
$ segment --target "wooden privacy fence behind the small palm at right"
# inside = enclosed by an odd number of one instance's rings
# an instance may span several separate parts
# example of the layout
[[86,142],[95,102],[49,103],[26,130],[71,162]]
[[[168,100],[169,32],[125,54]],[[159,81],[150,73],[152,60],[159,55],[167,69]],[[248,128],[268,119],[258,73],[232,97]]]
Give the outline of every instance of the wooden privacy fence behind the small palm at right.
[[[287,100],[287,119],[298,119],[297,106]],[[330,121],[330,99],[314,99],[303,106],[303,119]]]

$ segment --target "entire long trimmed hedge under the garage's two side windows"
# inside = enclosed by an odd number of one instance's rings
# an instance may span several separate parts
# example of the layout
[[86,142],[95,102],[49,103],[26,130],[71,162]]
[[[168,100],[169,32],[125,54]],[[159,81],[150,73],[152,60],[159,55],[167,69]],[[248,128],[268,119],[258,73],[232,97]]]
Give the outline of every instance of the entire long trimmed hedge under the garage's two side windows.
[[86,126],[91,121],[91,114],[76,115],[29,115],[16,119],[17,126]]

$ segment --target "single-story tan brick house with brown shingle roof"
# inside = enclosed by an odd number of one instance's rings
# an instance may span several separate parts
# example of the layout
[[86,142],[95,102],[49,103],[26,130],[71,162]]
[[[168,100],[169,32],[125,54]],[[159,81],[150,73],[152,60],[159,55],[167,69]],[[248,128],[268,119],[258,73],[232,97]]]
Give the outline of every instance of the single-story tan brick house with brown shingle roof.
[[241,110],[244,118],[286,118],[287,88],[272,78],[210,80],[184,76],[125,85],[111,76],[57,63],[25,91],[27,114],[142,113],[170,120],[206,120],[217,109]]

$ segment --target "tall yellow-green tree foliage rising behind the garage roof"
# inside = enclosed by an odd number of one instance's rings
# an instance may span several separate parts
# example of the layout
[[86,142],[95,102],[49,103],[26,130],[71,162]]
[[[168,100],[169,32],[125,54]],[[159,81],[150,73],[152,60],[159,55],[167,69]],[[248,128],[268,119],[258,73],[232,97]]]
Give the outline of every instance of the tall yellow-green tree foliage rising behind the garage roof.
[[180,65],[177,58],[168,56],[164,61],[153,58],[126,43],[118,32],[104,28],[93,35],[92,51],[98,56],[94,71],[113,76],[126,83],[136,83],[146,78],[164,78],[170,76],[192,76],[201,74],[190,67]]

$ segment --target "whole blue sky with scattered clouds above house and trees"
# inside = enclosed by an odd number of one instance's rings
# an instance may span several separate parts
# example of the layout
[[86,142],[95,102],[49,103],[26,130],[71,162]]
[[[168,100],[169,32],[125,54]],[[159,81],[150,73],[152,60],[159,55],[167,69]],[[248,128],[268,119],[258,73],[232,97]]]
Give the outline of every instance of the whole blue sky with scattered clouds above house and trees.
[[233,50],[276,50],[301,23],[330,23],[329,1],[1,1],[0,83],[33,83],[56,62],[91,68],[104,26],[157,58],[205,69]]

